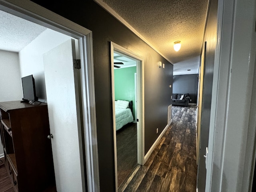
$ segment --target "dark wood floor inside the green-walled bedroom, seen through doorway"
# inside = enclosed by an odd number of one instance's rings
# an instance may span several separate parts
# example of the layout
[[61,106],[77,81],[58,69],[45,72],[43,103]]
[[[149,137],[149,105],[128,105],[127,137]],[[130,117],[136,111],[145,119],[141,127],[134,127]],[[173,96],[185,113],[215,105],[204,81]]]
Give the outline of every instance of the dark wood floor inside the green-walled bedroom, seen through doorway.
[[137,165],[137,127],[129,123],[116,132],[118,187]]

